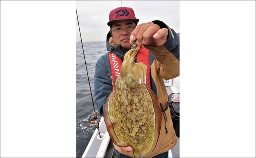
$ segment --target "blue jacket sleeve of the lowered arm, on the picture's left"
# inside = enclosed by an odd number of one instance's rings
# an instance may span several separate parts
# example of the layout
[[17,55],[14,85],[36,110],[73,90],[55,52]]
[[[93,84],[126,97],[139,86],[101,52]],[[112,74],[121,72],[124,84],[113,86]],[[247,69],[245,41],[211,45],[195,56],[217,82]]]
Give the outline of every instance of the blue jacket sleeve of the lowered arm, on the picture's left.
[[104,58],[101,57],[95,65],[95,75],[94,75],[94,97],[95,102],[99,111],[99,114],[103,116],[104,105],[108,95],[113,90],[112,80],[108,75],[109,71],[106,66]]

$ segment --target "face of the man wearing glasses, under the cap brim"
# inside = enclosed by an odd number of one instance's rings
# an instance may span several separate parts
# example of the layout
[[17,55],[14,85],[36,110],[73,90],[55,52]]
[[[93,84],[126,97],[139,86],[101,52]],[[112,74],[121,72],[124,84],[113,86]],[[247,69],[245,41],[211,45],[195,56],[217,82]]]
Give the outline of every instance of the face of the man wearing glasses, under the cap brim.
[[113,23],[111,27],[111,35],[115,45],[118,46],[120,44],[125,50],[129,50],[129,48],[131,48],[129,38],[131,36],[132,29],[135,27],[136,24],[132,20],[120,20]]

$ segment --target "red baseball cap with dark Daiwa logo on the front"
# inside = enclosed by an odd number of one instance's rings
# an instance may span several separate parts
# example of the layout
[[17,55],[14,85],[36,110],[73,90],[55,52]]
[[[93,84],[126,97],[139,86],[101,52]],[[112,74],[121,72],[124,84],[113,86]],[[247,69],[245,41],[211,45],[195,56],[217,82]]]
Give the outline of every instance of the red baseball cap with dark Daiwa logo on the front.
[[134,11],[128,7],[118,7],[109,13],[108,26],[112,26],[118,20],[132,20],[138,23],[139,19],[135,17]]

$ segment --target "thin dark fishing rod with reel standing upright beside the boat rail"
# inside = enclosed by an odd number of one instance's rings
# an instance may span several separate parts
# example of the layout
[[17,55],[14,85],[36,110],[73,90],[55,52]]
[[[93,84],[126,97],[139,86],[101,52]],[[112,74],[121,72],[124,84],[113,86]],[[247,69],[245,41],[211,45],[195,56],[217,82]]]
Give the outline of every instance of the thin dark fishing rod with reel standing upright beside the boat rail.
[[[79,28],[79,33],[80,33],[80,39],[81,39],[81,43],[82,43],[82,49],[83,49],[83,41],[82,41],[82,36],[81,36],[81,31],[80,31],[80,26],[79,26],[79,20],[78,20],[78,14],[77,14],[77,10],[76,10],[76,17],[77,17],[77,22],[78,22],[78,28]],[[83,50],[83,58],[85,60],[85,51]],[[91,91],[91,97],[92,97],[92,90],[91,90],[91,84],[90,84],[90,80],[89,80],[89,75],[88,75],[88,70],[87,70],[87,65],[86,65],[86,60],[85,60],[85,67],[86,67],[86,73],[87,73],[87,77],[88,77],[88,83],[89,83],[89,87],[90,87],[90,91]],[[92,105],[93,105],[93,117],[89,118],[89,123],[90,124],[95,124],[96,128],[99,131],[99,119],[97,117],[97,112],[95,110],[94,107],[94,103],[93,103],[93,97],[92,97]],[[83,128],[85,130],[87,130],[88,124]],[[101,133],[99,132],[99,138],[101,138]]]

